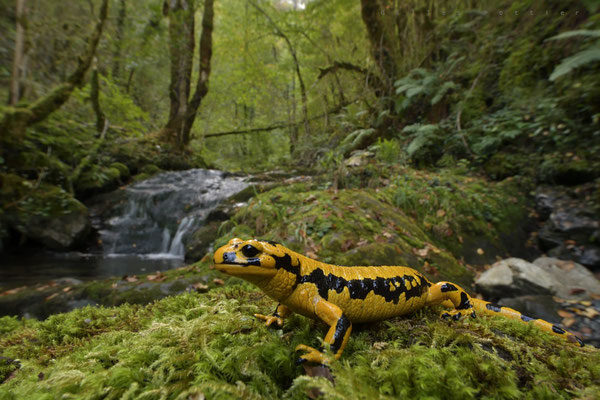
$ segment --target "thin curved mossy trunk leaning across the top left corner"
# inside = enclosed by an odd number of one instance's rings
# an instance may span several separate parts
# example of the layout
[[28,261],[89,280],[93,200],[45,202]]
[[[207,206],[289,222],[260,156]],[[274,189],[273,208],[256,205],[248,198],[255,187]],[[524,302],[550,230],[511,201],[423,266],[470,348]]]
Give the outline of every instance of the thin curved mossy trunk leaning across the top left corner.
[[[67,80],[58,87],[54,88],[44,97],[36,100],[27,107],[9,107],[4,110],[2,120],[0,121],[0,135],[21,137],[25,128],[43,121],[46,117],[58,110],[71,96],[76,87],[83,84],[85,73],[90,68],[100,37],[102,29],[108,15],[108,0],[102,1],[100,7],[99,20],[92,36],[88,40],[86,51],[78,59],[77,68],[68,76]],[[6,139],[0,137],[1,140]]]

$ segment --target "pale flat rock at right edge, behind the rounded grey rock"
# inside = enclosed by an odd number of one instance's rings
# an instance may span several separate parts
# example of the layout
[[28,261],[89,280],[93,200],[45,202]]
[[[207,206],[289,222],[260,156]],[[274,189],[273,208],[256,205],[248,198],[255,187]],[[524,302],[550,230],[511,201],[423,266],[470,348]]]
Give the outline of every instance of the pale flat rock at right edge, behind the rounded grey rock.
[[533,263],[560,282],[556,295],[563,299],[583,300],[600,294],[600,281],[581,264],[552,257],[540,257]]

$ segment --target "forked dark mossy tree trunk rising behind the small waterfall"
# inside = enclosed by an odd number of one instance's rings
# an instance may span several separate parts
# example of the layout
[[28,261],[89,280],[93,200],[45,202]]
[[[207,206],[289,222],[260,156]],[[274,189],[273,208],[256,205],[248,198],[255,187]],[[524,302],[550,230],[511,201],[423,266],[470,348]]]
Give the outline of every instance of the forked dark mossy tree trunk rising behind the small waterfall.
[[212,58],[212,31],[214,1],[204,2],[202,33],[200,36],[198,81],[190,98],[195,48],[195,4],[190,0],[166,0],[163,11],[169,18],[169,51],[171,56],[171,83],[169,85],[169,120],[161,131],[167,142],[183,149],[191,140],[191,130],[202,99],[208,93],[210,61]]

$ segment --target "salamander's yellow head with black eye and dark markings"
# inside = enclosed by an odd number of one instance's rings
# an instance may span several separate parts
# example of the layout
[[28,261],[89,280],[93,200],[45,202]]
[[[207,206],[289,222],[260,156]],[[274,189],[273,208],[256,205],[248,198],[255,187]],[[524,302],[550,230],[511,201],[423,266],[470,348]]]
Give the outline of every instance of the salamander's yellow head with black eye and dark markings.
[[278,243],[236,238],[215,251],[214,263],[221,272],[253,280],[273,277],[281,268],[289,271],[299,260]]

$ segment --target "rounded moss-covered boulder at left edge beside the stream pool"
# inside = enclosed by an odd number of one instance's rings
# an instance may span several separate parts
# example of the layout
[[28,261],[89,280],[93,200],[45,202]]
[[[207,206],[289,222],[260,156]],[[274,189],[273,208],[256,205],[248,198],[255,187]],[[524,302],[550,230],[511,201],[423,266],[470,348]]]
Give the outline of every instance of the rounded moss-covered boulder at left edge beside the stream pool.
[[90,230],[87,208],[59,187],[0,174],[0,199],[4,223],[46,247],[73,247]]

